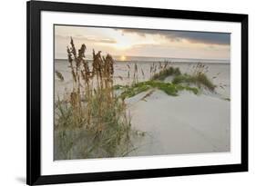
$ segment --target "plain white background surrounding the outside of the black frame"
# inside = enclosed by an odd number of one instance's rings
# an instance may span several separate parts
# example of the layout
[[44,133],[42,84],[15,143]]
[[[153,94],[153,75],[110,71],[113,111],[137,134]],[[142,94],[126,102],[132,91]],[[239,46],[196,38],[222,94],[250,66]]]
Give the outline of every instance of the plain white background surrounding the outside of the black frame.
[[[66,0],[72,2],[72,0]],[[128,5],[249,14],[250,171],[132,181],[104,181],[72,185],[254,185],[256,182],[256,11],[254,1],[228,0],[73,0],[98,5]],[[2,1],[0,5],[0,185],[26,182],[26,1]]]

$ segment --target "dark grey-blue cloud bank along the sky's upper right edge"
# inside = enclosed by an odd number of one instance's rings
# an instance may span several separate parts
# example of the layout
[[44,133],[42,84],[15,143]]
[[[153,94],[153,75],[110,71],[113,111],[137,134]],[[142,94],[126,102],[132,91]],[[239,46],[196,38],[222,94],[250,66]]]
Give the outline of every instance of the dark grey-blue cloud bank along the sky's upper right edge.
[[138,34],[146,36],[146,34],[158,34],[169,41],[188,40],[193,44],[230,44],[230,34],[228,33],[209,33],[209,32],[192,32],[192,31],[165,31],[150,29],[116,29],[122,34]]

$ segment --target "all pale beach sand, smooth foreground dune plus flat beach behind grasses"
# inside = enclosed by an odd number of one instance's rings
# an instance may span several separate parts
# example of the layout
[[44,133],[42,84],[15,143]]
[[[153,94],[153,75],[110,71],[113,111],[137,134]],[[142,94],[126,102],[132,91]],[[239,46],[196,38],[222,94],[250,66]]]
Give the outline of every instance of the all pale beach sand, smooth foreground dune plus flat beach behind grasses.
[[[128,64],[115,64],[115,84],[126,84]],[[138,77],[139,82],[150,78],[149,69],[152,62],[138,63],[139,72],[143,69],[145,77]],[[193,73],[195,63],[174,63],[181,73]],[[179,96],[169,96],[155,90],[144,101],[147,93],[126,99],[131,125],[134,130],[145,132],[145,136],[134,138],[137,148],[129,156],[149,156],[182,153],[230,152],[230,64],[206,64],[209,66],[207,76],[216,85],[216,93],[204,91],[199,95],[180,92]],[[55,96],[61,97],[72,90],[72,76],[67,62],[56,60],[56,70],[65,76],[65,82],[57,81]],[[130,74],[133,74],[132,71]],[[119,76],[123,78],[119,78]],[[217,76],[217,78],[214,78]],[[171,82],[169,76],[165,82]],[[226,84],[220,88],[221,84]]]

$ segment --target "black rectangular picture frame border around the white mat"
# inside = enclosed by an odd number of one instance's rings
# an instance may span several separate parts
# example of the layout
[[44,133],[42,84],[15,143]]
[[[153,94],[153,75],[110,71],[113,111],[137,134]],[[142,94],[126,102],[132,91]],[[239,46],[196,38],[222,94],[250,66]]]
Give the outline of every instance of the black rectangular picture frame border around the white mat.
[[[30,1],[27,10],[27,130],[26,183],[28,185],[140,179],[195,174],[248,171],[248,15],[181,11],[169,9],[125,7],[114,5],[85,5]],[[41,174],[41,65],[40,23],[41,11],[91,13],[101,15],[137,15],[190,20],[208,20],[241,23],[241,163],[197,167],[166,168],[139,171],[109,171],[65,175]]]

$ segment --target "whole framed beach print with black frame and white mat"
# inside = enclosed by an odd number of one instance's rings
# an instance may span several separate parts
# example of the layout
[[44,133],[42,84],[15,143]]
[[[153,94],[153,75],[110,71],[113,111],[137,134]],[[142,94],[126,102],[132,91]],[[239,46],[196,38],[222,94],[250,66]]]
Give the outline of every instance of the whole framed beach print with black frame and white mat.
[[248,15],[27,2],[27,184],[248,171]]

